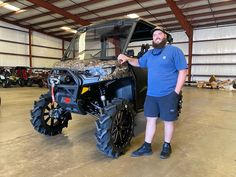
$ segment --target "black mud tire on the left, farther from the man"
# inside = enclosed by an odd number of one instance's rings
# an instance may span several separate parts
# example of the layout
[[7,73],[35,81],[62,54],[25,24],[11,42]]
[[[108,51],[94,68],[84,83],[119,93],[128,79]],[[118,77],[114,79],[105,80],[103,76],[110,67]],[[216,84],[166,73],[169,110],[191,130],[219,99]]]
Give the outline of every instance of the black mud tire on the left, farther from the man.
[[44,135],[54,136],[60,134],[62,129],[68,126],[71,113],[63,110],[60,119],[55,119],[49,114],[55,108],[58,109],[59,105],[52,104],[50,93],[41,95],[39,100],[34,103],[30,121],[36,131]]

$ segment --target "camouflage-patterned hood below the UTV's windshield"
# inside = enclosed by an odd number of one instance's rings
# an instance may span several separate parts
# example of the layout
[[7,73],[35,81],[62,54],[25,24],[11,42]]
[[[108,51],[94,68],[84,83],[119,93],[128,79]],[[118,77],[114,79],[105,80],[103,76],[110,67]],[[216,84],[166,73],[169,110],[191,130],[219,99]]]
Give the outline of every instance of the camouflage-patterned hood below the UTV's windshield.
[[117,60],[67,60],[55,63],[54,68],[67,68],[73,71],[82,71],[91,76],[99,76],[99,81],[131,76],[128,64],[121,65]]

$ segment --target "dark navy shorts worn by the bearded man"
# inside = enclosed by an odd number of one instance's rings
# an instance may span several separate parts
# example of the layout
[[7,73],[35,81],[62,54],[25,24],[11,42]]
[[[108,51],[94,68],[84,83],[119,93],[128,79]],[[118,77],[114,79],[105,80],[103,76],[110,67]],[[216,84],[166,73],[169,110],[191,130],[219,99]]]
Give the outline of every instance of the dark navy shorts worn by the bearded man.
[[162,97],[147,95],[144,103],[145,117],[160,117],[164,121],[177,120],[179,98],[175,91]]

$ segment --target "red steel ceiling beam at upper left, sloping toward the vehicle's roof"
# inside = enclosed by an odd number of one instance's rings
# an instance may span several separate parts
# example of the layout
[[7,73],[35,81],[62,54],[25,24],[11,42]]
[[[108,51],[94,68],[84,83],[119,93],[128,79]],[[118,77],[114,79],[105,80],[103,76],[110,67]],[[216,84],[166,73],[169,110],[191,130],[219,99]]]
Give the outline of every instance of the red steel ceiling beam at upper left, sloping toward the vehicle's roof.
[[67,11],[64,11],[62,8],[56,7],[53,4],[50,4],[46,1],[43,0],[27,0],[35,5],[38,5],[39,7],[43,7],[45,9],[48,9],[54,13],[60,14],[68,19],[72,19],[74,20],[76,23],[81,24],[83,26],[89,25],[90,22],[88,22],[87,20],[83,20],[81,18],[79,18],[78,16],[71,14]]

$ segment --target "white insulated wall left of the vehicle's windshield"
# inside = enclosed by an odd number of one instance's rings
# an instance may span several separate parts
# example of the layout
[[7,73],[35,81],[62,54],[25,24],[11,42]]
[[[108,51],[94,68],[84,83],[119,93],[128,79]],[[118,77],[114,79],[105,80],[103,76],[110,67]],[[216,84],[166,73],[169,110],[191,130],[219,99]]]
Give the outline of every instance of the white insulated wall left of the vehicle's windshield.
[[[32,67],[51,68],[62,57],[62,40],[32,31]],[[0,21],[0,66],[30,66],[29,31]]]

